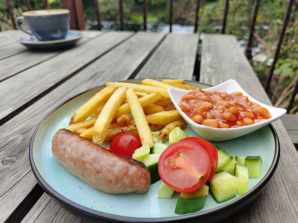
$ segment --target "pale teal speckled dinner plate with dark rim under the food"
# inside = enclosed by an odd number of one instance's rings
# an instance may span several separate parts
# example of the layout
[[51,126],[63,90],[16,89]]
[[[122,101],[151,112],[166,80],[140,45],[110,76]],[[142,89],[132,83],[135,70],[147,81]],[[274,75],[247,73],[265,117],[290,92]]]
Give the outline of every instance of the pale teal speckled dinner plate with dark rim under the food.
[[[141,80],[126,82],[141,84]],[[186,81],[195,87],[209,87],[198,82]],[[149,186],[145,194],[107,194],[96,190],[63,168],[53,157],[51,140],[54,133],[67,126],[71,116],[104,86],[83,92],[58,105],[37,126],[30,143],[29,159],[39,184],[62,207],[82,218],[105,222],[172,222],[219,221],[251,202],[273,175],[279,160],[279,141],[272,125],[237,139],[213,143],[232,156],[261,156],[262,171],[259,178],[249,179],[248,192],[224,203],[217,203],[208,195],[205,207],[197,213],[174,213],[179,193],[172,199],[158,199],[160,181]],[[188,135],[198,136],[187,127]],[[109,142],[103,145],[108,148]]]

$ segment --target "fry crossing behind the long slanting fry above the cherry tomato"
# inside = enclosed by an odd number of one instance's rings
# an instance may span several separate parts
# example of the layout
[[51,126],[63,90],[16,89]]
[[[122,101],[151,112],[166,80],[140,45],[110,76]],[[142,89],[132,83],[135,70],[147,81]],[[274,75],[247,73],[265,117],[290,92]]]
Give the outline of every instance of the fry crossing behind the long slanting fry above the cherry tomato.
[[[142,108],[153,104],[161,99],[161,95],[157,93],[149,94],[142,98],[139,98],[139,102],[141,103]],[[123,114],[129,114],[131,112],[131,108],[128,103],[121,105],[115,113],[114,118],[118,118]]]

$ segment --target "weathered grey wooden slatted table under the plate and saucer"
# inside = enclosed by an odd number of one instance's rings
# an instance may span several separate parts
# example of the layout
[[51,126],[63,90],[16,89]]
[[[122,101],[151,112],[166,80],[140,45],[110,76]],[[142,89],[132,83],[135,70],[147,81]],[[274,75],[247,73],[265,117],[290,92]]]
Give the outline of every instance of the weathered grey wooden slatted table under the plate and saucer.
[[[57,105],[106,82],[193,79],[197,34],[82,32],[74,47],[51,51],[17,43],[20,31],[0,32],[0,222],[86,222],[44,192],[29,163],[32,134]],[[204,35],[200,82],[228,79],[270,104],[236,39]],[[222,222],[298,222],[298,153],[282,122],[273,126],[281,149],[274,175],[256,199]]]

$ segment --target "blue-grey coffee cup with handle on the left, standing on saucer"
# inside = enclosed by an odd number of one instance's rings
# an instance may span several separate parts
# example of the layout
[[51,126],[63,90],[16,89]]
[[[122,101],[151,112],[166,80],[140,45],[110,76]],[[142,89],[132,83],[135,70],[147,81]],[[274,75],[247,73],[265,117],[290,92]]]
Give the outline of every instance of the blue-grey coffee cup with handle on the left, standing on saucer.
[[[30,30],[21,25],[24,20]],[[68,9],[34,10],[22,13],[16,18],[20,30],[36,37],[40,41],[64,39],[70,29],[70,11]]]

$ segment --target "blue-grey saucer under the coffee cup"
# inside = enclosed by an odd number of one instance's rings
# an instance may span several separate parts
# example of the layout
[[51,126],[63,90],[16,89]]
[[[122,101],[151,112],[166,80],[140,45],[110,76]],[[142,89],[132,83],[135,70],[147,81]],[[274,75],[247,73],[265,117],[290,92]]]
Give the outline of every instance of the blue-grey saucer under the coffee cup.
[[28,36],[18,38],[16,41],[30,49],[57,49],[72,46],[82,37],[81,32],[70,30],[65,39],[61,40],[39,41],[35,37]]

